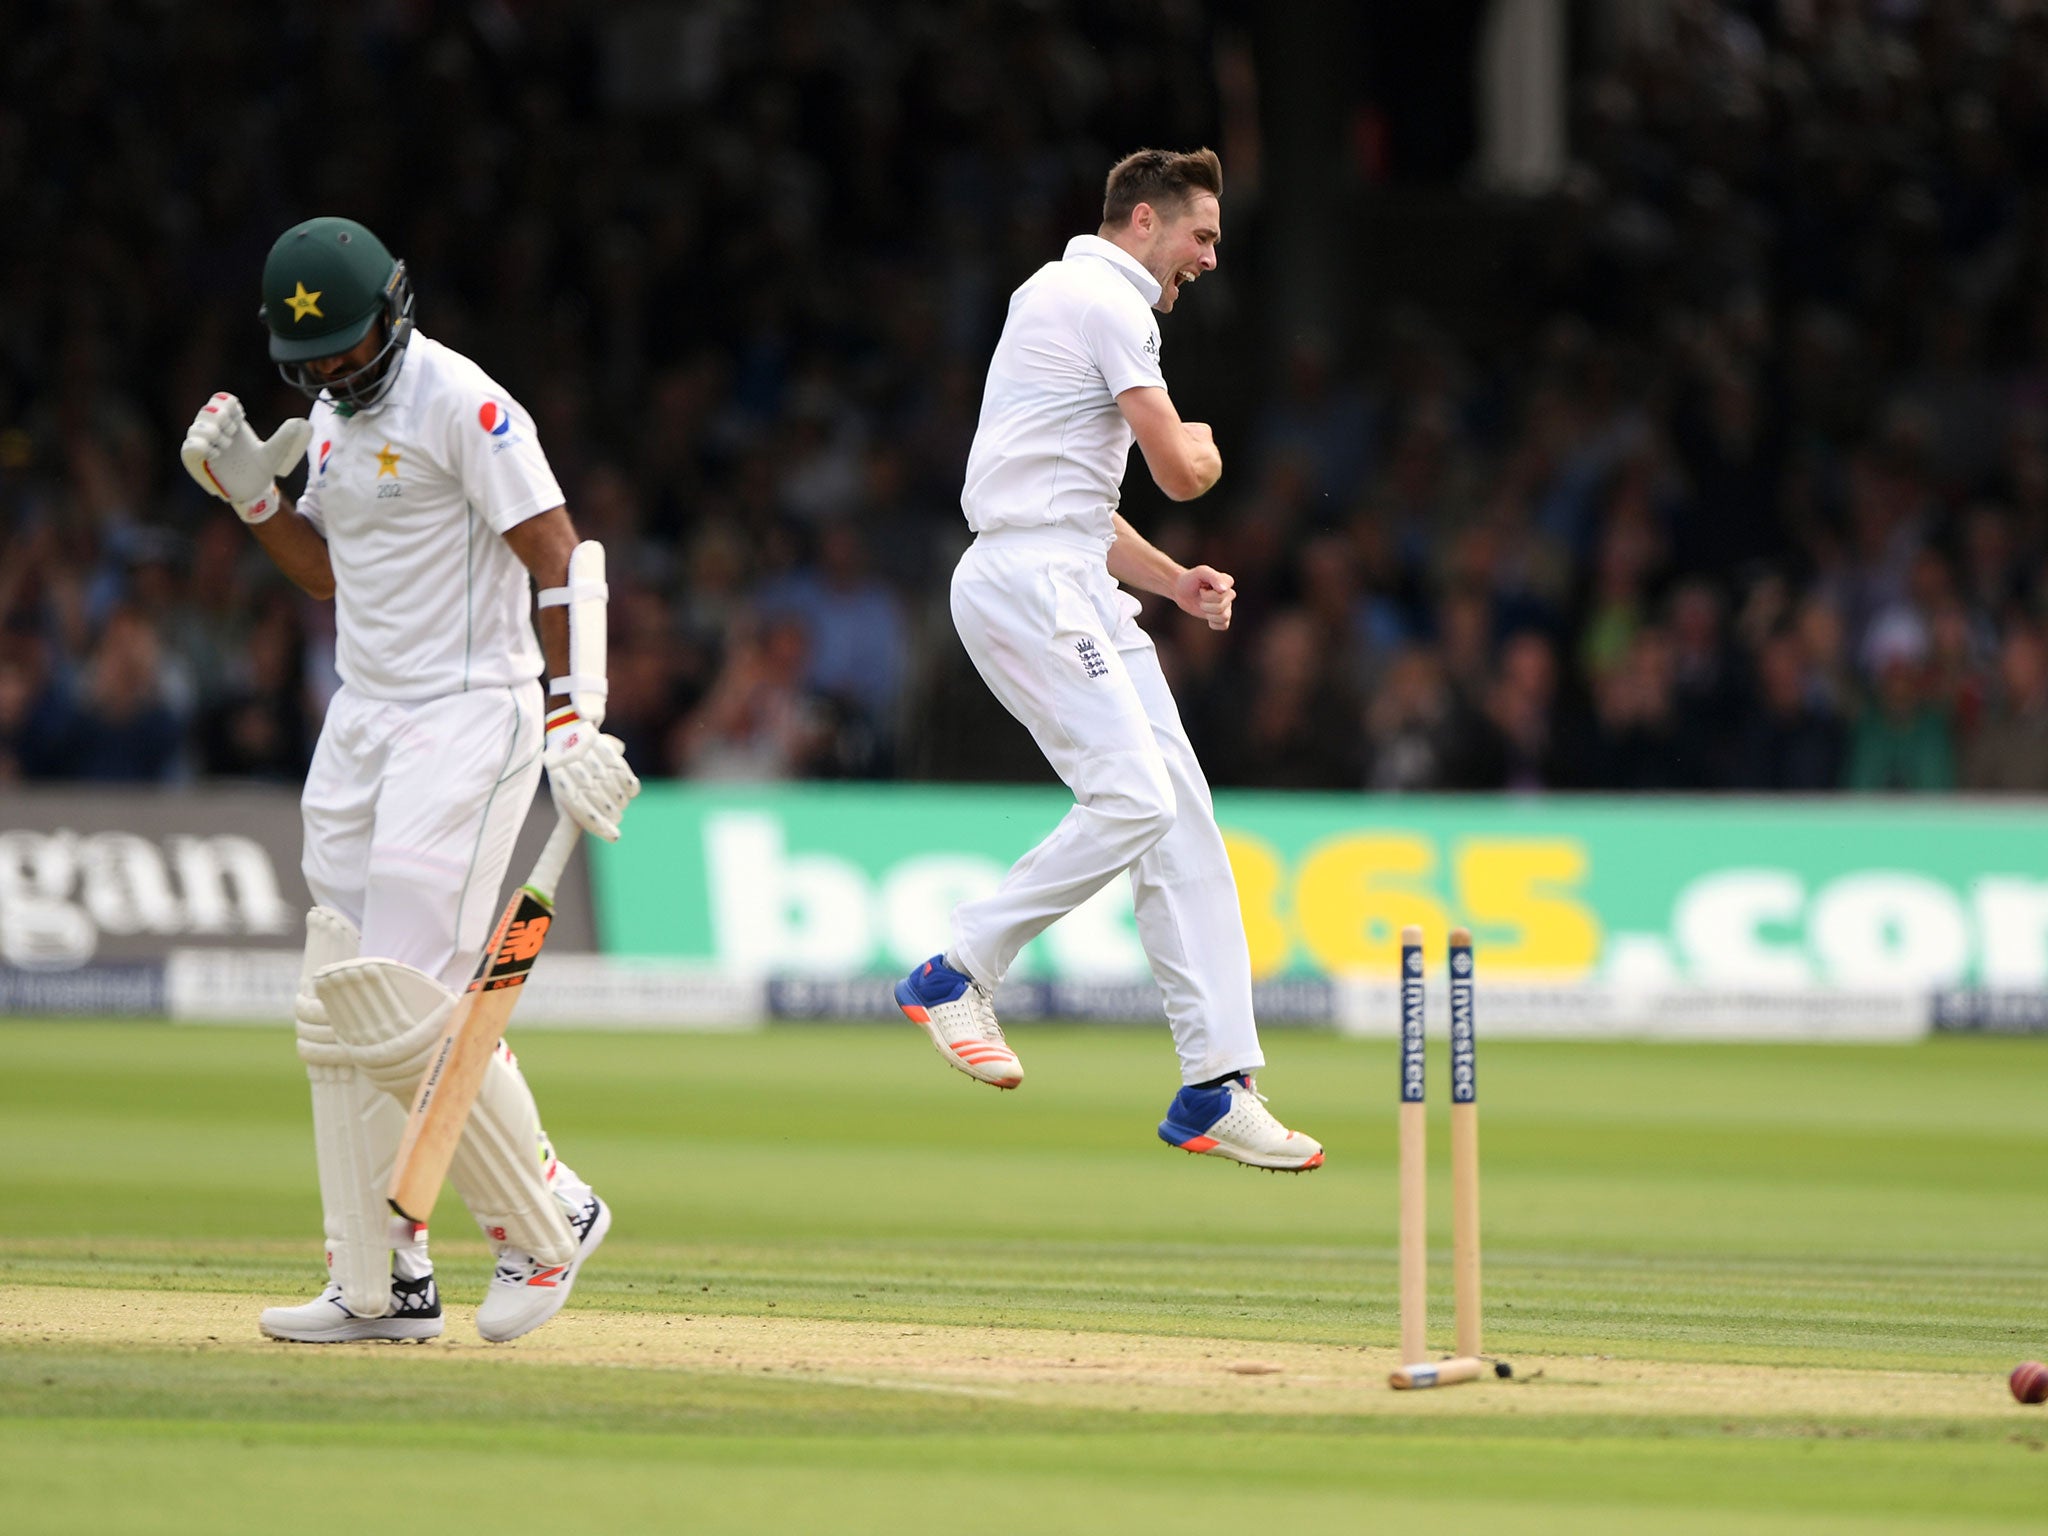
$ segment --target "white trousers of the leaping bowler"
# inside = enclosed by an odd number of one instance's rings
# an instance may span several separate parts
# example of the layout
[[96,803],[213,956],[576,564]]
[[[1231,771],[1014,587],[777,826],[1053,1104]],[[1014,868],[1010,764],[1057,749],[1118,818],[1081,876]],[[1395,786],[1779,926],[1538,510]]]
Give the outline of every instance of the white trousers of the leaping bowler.
[[1102,539],[1071,528],[999,528],[952,571],[952,623],[975,670],[1073,809],[993,895],[954,907],[948,952],[995,987],[1024,944],[1130,870],[1182,1081],[1202,1083],[1266,1065],[1251,954],[1208,780],[1106,557]]

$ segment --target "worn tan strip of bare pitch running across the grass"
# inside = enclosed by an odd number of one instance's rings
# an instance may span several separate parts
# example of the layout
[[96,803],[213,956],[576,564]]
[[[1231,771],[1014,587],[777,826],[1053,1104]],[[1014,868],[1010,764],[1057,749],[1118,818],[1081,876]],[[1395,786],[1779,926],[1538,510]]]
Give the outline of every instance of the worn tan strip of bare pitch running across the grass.
[[[188,1354],[274,1356],[281,1346],[252,1337],[250,1298],[184,1290],[88,1290],[14,1286],[0,1348],[57,1346],[78,1352],[178,1350]],[[694,1374],[782,1374],[786,1380],[895,1393],[958,1393],[1006,1403],[1090,1411],[1411,1415],[1452,1417],[1702,1413],[1829,1419],[2011,1421],[2011,1405],[1982,1372],[1851,1370],[1831,1366],[1747,1366],[1630,1360],[1614,1356],[1524,1356],[1520,1378],[1485,1391],[1417,1393],[1386,1386],[1399,1356],[1386,1348],[987,1327],[907,1325],[823,1317],[721,1317],[580,1309],[520,1348],[483,1343],[469,1309],[420,1362],[397,1370],[451,1370],[489,1356],[532,1372],[520,1391],[545,1393],[561,1366],[612,1366]],[[410,1346],[365,1354],[408,1352]],[[2044,1425],[2048,1427],[2048,1425]]]

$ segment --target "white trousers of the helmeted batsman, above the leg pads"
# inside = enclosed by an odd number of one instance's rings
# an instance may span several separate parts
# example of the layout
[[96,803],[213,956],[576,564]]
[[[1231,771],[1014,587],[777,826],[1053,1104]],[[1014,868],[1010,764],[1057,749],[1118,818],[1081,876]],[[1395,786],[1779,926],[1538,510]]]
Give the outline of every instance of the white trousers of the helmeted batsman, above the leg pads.
[[395,702],[342,688],[299,811],[313,901],[362,954],[461,991],[541,778],[541,684]]

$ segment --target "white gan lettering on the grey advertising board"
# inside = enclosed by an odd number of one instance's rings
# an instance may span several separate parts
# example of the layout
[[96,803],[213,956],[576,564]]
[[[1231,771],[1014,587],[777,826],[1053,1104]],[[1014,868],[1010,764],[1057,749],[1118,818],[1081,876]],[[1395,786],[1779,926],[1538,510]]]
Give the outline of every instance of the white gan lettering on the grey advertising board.
[[0,961],[61,971],[102,934],[289,936],[270,854],[236,834],[0,831]]

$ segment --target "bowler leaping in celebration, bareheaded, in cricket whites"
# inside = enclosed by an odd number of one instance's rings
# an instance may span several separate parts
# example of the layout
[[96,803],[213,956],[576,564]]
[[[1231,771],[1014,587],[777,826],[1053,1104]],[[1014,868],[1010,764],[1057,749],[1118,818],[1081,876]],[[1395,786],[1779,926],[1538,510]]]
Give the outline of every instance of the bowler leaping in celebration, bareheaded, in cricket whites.
[[1116,510],[1133,440],[1176,502],[1223,473],[1208,426],[1174,410],[1153,319],[1214,270],[1221,197],[1214,152],[1141,150],[1110,170],[1100,233],[1075,236],[1010,297],[967,459],[961,506],[975,543],[952,573],[952,623],[1075,803],[993,895],[954,909],[952,944],[895,997],[954,1067],[1016,1087],[1024,1067],[995,1020],[995,987],[1026,942],[1130,870],[1180,1053],[1182,1090],[1159,1137],[1300,1171],[1323,1149],[1253,1087],[1266,1057],[1237,883],[1139,602],[1118,588],[1231,625],[1231,578],[1176,563]]

